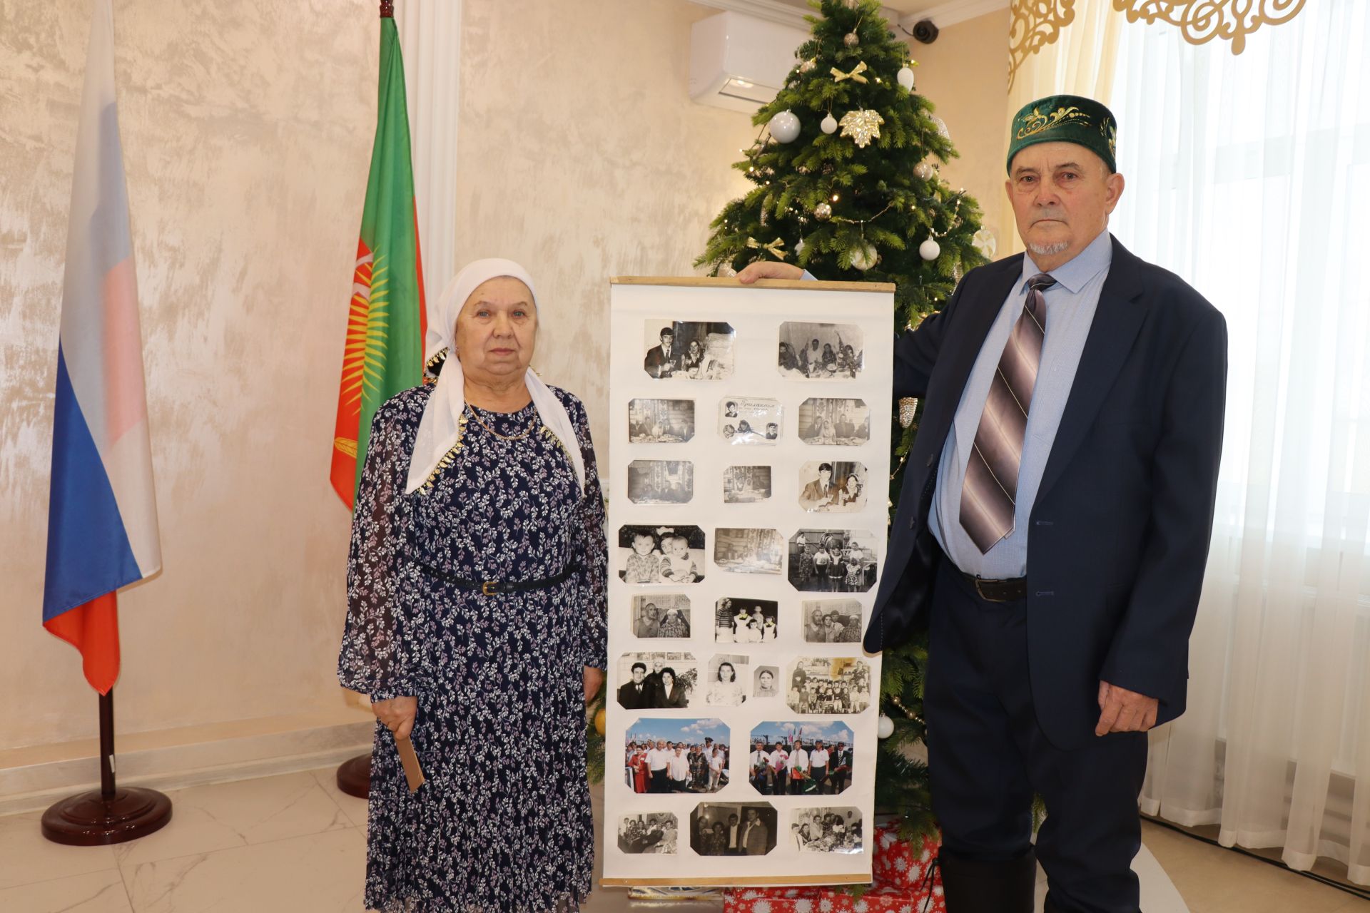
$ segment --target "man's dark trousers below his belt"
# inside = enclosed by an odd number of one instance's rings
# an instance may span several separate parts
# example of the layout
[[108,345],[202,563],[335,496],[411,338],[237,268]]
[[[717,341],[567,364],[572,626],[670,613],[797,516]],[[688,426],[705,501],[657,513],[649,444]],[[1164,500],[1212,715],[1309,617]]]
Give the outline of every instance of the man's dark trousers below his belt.
[[1051,745],[1029,686],[1026,600],[989,602],[949,558],[937,564],[923,710],[947,864],[1023,860],[1037,793],[1047,805],[1036,856],[1048,909],[1137,913],[1130,865],[1141,846],[1147,735],[1112,732],[1071,751]]

